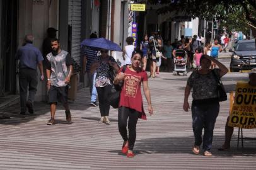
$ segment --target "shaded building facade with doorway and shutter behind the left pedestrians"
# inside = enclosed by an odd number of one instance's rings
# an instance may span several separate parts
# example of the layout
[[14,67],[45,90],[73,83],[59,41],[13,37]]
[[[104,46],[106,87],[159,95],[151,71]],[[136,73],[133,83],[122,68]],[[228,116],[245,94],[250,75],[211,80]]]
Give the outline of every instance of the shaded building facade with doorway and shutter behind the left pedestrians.
[[[91,9],[96,0],[9,0],[0,2],[0,98],[19,93],[15,54],[27,34],[42,51],[49,27],[56,28],[61,48],[81,63],[80,43],[91,33]],[[95,18],[95,20],[98,20]],[[99,20],[98,20],[99,22]],[[39,79],[39,77],[38,77]],[[37,101],[46,99],[45,82],[38,83]],[[0,100],[1,101],[1,100]]]

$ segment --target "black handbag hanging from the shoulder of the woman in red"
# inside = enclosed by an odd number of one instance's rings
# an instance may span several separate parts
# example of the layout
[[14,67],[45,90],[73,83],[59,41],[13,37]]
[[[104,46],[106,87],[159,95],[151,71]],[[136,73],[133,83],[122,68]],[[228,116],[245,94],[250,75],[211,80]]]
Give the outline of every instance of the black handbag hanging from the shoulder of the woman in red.
[[[122,72],[125,72],[126,67],[127,65],[124,65],[122,67]],[[123,85],[124,82],[119,82],[119,84],[113,84],[110,93],[108,94],[108,101],[110,103],[110,106],[112,106],[113,108],[119,108],[120,93],[122,91]]]

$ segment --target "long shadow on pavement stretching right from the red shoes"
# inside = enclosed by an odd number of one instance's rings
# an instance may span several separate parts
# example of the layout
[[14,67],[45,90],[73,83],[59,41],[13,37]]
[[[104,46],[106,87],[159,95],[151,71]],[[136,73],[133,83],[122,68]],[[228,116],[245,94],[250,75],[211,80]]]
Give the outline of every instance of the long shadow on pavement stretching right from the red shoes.
[[[223,136],[214,136],[216,140],[223,139]],[[237,139],[233,135],[233,139]],[[216,142],[216,141],[215,141]],[[218,142],[219,143],[219,142]],[[137,140],[134,146],[134,154],[193,154],[192,145],[194,144],[194,137],[160,137]],[[219,151],[218,147],[221,144],[212,144],[213,157],[233,157],[233,156],[256,156],[256,142],[252,142],[244,146],[244,148],[237,148],[236,141],[231,144],[231,149],[226,151]],[[202,145],[201,145],[202,150]],[[111,150],[119,155],[124,155],[120,150]],[[202,151],[201,151],[202,156]]]

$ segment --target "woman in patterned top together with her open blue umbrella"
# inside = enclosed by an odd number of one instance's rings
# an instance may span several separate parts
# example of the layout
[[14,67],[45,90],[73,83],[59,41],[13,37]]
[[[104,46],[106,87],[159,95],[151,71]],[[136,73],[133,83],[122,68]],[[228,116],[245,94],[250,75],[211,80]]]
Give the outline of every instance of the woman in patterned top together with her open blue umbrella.
[[117,43],[105,38],[90,38],[83,40],[81,46],[99,50],[101,55],[96,57],[95,63],[91,65],[91,72],[96,71],[95,87],[98,93],[98,101],[100,107],[100,122],[109,124],[108,119],[110,103],[108,101],[108,92],[112,88],[113,77],[110,77],[110,71],[118,71],[117,62],[112,56],[108,55],[108,50],[122,52]]

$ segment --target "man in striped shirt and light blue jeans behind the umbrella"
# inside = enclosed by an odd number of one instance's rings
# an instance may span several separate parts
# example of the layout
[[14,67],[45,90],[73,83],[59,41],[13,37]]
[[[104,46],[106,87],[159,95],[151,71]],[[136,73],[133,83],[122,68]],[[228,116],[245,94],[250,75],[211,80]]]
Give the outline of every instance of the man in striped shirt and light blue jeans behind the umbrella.
[[[97,38],[95,33],[92,33],[90,35],[90,38]],[[97,91],[95,88],[95,78],[96,78],[96,72],[91,74],[91,65],[95,62],[96,56],[97,56],[97,51],[92,50],[87,47],[82,47],[82,52],[83,52],[83,72],[87,73],[88,80],[89,80],[89,86],[90,86],[90,95],[91,95],[91,103],[90,105],[92,106],[98,106],[96,103],[97,99]]]

